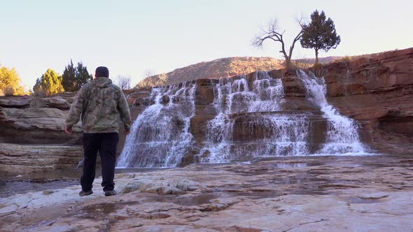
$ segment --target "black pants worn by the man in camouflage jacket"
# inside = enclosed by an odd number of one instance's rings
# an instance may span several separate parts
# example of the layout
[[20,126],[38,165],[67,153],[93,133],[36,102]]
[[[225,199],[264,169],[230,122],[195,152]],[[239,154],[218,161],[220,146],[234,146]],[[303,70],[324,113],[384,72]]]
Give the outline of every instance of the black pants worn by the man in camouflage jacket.
[[83,175],[80,184],[83,191],[92,190],[96,169],[96,157],[99,151],[102,162],[102,187],[104,191],[111,191],[115,187],[116,147],[118,133],[83,133]]

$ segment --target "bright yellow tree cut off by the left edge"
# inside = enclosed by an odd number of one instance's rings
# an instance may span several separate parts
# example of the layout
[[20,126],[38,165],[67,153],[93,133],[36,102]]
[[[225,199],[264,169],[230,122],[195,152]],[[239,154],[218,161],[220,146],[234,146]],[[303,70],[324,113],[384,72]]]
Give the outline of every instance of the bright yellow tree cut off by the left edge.
[[15,68],[0,67],[0,90],[5,95],[27,94]]

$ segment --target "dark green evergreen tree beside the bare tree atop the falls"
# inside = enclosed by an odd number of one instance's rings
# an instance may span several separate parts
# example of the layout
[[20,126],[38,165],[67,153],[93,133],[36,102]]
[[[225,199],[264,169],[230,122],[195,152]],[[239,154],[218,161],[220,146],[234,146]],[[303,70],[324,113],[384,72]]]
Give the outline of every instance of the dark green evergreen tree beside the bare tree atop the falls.
[[311,22],[302,27],[302,37],[300,41],[302,48],[313,48],[316,52],[316,64],[318,64],[318,51],[328,52],[331,48],[337,48],[340,43],[340,36],[337,36],[334,22],[328,18],[325,20],[325,13],[321,10],[314,10],[311,14]]

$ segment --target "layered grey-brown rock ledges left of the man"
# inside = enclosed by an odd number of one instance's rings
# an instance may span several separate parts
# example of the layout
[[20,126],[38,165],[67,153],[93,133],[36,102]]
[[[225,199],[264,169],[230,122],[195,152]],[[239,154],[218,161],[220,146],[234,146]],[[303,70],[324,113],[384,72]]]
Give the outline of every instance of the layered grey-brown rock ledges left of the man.
[[64,133],[74,94],[47,99],[0,99],[0,168],[10,174],[76,168],[82,159],[80,125]]

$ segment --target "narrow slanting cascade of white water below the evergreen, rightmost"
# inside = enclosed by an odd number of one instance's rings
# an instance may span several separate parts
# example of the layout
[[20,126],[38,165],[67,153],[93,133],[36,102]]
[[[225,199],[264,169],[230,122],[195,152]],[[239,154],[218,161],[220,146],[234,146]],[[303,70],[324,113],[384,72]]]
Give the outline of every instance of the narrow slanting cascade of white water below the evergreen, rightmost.
[[324,78],[317,78],[313,73],[307,75],[304,71],[297,71],[307,90],[309,101],[320,107],[323,116],[328,119],[326,142],[318,154],[364,154],[365,146],[358,136],[358,124],[349,117],[339,114],[331,106],[325,94],[327,93]]

